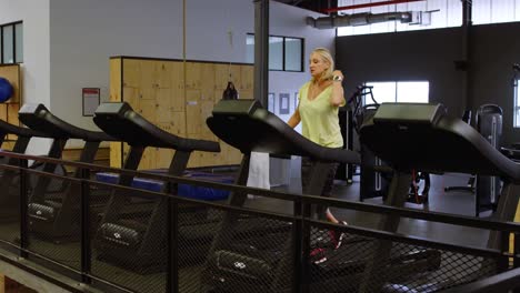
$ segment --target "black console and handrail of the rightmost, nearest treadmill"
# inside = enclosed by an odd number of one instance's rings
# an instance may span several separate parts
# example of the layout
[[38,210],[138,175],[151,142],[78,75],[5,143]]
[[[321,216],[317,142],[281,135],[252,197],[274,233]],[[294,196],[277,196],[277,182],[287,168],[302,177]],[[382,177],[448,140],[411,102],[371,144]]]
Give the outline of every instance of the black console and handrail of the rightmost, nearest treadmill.
[[403,119],[433,104],[384,103],[378,113],[394,118],[366,121],[360,140],[376,155],[401,171],[458,172],[498,175],[520,182],[520,164],[497,150],[476,129],[460,118],[439,112],[434,120]]

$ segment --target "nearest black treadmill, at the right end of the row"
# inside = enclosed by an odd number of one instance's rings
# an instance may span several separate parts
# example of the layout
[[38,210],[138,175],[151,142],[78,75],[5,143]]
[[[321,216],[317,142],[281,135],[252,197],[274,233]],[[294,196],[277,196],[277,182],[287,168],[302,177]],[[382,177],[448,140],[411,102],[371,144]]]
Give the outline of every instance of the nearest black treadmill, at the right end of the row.
[[[500,176],[504,182],[492,216],[499,221],[514,220],[520,194],[520,165],[500,153],[461,119],[448,117],[442,104],[384,103],[362,125],[360,140],[394,170],[389,192],[394,205],[401,205],[406,200],[411,170],[491,175]],[[396,230],[399,222],[398,216],[386,215],[381,219],[380,229]],[[499,233],[491,231],[487,246],[499,250],[508,243],[502,243]],[[372,246],[373,257],[363,272],[359,292],[380,292],[388,282],[384,270],[391,261],[389,251],[392,245],[389,241],[380,240]],[[443,263],[441,270],[446,271],[444,265],[450,264]],[[466,275],[454,267],[456,281],[478,280],[497,273],[499,267],[497,261],[489,259],[474,266],[477,269]],[[421,279],[428,280],[428,276]],[[436,280],[446,281],[448,286],[457,284],[449,276],[438,276]],[[416,290],[413,286],[408,289]]]

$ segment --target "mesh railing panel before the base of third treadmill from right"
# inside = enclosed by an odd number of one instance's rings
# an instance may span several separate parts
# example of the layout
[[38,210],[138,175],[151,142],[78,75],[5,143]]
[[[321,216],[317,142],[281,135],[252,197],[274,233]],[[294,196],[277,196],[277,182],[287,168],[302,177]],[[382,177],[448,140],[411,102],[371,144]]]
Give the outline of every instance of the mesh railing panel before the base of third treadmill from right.
[[92,275],[136,292],[164,292],[164,196],[116,188],[107,196],[103,214],[91,219]]

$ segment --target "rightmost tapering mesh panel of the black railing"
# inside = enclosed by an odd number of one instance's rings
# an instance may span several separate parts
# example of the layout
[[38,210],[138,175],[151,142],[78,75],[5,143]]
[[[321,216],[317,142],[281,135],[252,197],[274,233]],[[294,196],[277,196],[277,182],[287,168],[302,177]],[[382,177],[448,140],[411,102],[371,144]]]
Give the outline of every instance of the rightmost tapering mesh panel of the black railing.
[[333,228],[311,231],[310,292],[436,292],[497,273],[494,257]]

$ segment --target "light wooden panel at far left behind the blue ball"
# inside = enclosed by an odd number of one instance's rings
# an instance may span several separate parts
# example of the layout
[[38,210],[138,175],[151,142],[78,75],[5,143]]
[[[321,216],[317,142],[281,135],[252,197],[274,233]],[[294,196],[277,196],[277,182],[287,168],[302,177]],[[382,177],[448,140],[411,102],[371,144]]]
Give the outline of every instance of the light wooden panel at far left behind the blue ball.
[[[18,110],[21,103],[21,71],[19,64],[0,64],[0,78],[4,78],[11,83],[14,92],[7,102],[0,103],[0,119],[14,125],[20,125],[18,121]],[[17,137],[9,134],[1,148],[11,150]]]

